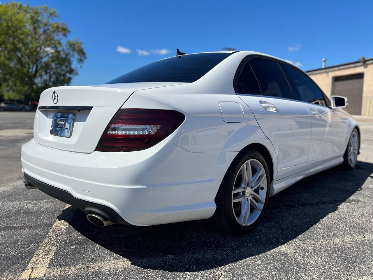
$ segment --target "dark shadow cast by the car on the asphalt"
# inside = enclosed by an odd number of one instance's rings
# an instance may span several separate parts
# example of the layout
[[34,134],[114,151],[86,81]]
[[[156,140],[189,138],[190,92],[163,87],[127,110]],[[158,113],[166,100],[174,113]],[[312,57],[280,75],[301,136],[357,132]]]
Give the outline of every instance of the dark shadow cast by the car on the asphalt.
[[[100,228],[90,224],[82,211],[76,211],[69,223],[88,239],[129,259],[132,265],[164,271],[204,271],[275,249],[336,211],[341,203],[358,203],[350,197],[361,190],[372,170],[373,164],[359,161],[351,171],[335,167],[301,180],[270,197],[263,220],[244,236],[217,231],[207,220]],[[59,219],[63,220],[70,208]]]

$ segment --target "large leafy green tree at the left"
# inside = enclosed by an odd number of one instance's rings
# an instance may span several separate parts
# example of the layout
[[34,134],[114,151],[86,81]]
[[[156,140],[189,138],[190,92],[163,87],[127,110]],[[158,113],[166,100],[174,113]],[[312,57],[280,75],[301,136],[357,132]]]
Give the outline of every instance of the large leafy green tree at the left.
[[0,99],[38,100],[49,87],[69,85],[87,57],[82,42],[47,6],[0,4]]

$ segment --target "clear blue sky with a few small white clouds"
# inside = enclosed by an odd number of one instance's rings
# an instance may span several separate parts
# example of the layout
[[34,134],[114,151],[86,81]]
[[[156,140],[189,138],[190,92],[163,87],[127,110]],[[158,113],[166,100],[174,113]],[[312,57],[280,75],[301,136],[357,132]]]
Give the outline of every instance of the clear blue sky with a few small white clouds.
[[[25,3],[25,2],[24,2]],[[47,4],[83,42],[72,85],[106,83],[182,52],[222,47],[288,59],[303,70],[373,57],[373,1],[28,1]]]

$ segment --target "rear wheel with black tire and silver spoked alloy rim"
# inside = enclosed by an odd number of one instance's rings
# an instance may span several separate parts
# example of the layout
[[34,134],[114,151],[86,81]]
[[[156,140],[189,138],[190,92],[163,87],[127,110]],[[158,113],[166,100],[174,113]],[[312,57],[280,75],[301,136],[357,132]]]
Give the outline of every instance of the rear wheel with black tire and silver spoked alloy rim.
[[[244,165],[247,167],[246,170],[248,166],[251,169],[250,181],[253,181],[251,187],[244,187],[251,185],[245,183],[242,177]],[[250,176],[249,172],[247,171],[247,177]],[[254,180],[258,174],[257,180]],[[270,175],[264,157],[254,149],[242,153],[232,162],[220,184],[215,197],[216,211],[213,222],[220,229],[231,234],[248,233],[258,225],[263,216],[269,197],[269,188]],[[240,190],[243,191],[239,192]],[[248,216],[247,213],[249,213]]]

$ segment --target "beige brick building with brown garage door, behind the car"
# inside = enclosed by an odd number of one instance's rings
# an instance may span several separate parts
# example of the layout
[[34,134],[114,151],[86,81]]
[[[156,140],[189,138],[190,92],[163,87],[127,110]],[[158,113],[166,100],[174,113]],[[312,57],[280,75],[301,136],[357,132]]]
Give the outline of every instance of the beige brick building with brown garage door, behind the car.
[[[324,60],[323,60],[324,61]],[[323,63],[325,66],[325,61]],[[352,115],[373,115],[373,58],[306,71],[319,87],[331,95],[348,98],[345,109]],[[369,108],[368,108],[369,107]]]

